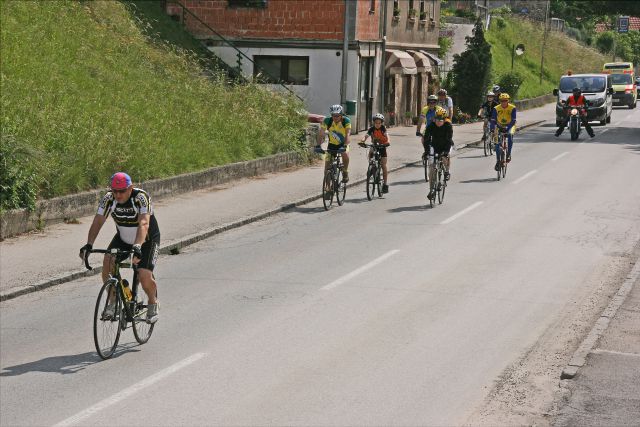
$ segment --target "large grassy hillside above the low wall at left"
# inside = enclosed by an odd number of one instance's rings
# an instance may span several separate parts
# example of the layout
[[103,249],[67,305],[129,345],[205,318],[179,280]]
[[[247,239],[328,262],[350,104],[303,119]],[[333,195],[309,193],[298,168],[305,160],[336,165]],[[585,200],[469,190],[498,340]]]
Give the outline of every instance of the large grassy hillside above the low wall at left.
[[0,209],[104,187],[117,170],[140,182],[300,145],[297,99],[206,77],[135,3],[0,8]]

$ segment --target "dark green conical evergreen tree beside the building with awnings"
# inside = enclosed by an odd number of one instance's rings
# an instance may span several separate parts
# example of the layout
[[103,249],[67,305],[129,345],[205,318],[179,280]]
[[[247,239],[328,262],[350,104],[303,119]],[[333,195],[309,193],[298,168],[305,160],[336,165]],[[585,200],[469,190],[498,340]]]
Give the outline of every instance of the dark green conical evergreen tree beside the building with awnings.
[[453,56],[452,94],[460,110],[477,111],[489,86],[491,45],[484,39],[482,22],[476,21],[473,36],[466,37],[467,50]]

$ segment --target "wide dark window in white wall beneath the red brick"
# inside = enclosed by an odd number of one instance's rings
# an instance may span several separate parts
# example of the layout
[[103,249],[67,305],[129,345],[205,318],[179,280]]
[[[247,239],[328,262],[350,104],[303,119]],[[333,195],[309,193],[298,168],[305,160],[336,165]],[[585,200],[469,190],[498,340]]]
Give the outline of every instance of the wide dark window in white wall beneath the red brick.
[[309,84],[308,56],[256,55],[253,61],[253,76],[260,83]]

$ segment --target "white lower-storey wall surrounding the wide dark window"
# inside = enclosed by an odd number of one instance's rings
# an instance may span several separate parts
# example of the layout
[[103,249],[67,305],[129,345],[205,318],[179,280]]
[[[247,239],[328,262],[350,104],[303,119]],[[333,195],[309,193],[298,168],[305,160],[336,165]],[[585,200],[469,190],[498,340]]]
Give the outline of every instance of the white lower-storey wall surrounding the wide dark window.
[[[237,51],[231,47],[210,47],[220,59],[234,66],[237,63]],[[304,48],[239,48],[253,59],[254,55],[308,56],[309,85],[287,85],[304,100],[307,111],[327,115],[329,106],[340,103],[340,76],[342,74],[342,51]],[[336,55],[340,52],[340,56]],[[346,99],[358,99],[359,60],[355,51],[349,51],[347,64]],[[242,72],[253,76],[253,64],[242,58]],[[275,90],[285,90],[280,85],[270,85]]]

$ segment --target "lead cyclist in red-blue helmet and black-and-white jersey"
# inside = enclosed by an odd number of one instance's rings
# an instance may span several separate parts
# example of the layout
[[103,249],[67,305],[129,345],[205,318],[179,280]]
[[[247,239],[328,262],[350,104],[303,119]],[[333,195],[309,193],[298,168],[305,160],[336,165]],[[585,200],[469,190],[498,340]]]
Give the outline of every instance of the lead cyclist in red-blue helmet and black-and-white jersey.
[[[134,188],[131,177],[124,172],[118,172],[111,177],[111,189],[98,205],[98,211],[89,228],[87,244],[80,249],[81,258],[84,258],[86,250],[93,248],[93,243],[109,215],[116,223],[117,232],[109,243],[108,249],[133,251],[133,263],[138,266],[140,284],[149,297],[147,322],[155,323],[159,312],[156,299],[157,284],[153,277],[153,269],[158,259],[160,228],[153,213],[151,198],[146,191]],[[113,257],[106,254],[102,266],[103,282],[109,278],[113,262]],[[115,304],[113,305],[112,310],[115,310]],[[109,307],[107,307],[108,310]]]

